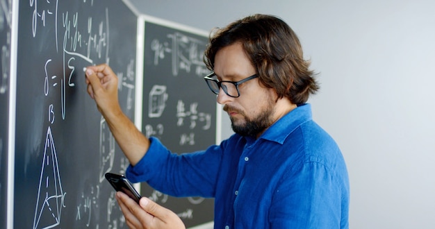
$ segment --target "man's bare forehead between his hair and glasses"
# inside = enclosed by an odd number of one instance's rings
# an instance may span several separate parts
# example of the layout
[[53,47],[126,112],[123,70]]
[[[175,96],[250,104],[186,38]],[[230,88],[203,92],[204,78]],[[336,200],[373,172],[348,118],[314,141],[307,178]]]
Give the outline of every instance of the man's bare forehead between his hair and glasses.
[[240,42],[217,51],[213,70],[221,80],[241,80],[256,73]]

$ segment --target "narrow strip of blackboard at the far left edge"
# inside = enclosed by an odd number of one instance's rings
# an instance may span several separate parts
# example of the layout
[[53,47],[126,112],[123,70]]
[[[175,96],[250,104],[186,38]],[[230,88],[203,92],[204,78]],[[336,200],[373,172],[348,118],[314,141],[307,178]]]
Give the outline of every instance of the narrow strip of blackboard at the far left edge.
[[10,1],[0,1],[0,228],[6,228],[8,200],[8,119],[10,79],[10,36],[12,27]]

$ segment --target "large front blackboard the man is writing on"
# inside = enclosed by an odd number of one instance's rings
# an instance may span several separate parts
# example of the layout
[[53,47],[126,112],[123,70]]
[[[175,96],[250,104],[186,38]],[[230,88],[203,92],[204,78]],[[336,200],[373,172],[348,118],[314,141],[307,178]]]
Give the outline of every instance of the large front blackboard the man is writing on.
[[137,19],[119,0],[20,1],[14,228],[126,228],[104,173],[129,163],[83,68],[108,63],[134,119]]

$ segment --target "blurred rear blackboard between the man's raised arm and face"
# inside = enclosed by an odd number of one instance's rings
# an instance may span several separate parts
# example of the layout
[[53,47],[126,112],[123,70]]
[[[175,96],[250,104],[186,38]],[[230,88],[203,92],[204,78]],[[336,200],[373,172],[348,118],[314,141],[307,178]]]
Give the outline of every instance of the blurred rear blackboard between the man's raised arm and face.
[[[216,144],[216,97],[203,79],[210,73],[203,62],[208,34],[152,17],[142,23],[142,133],[174,153]],[[211,198],[174,198],[146,183],[141,194],[177,213],[187,227],[213,221]]]

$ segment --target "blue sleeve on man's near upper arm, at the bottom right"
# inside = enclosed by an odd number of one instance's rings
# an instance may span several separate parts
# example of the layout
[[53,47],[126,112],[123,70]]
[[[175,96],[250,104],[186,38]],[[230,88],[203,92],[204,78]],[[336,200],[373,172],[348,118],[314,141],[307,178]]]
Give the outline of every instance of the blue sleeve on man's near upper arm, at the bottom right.
[[271,228],[340,228],[343,180],[315,159],[289,169],[272,195]]

